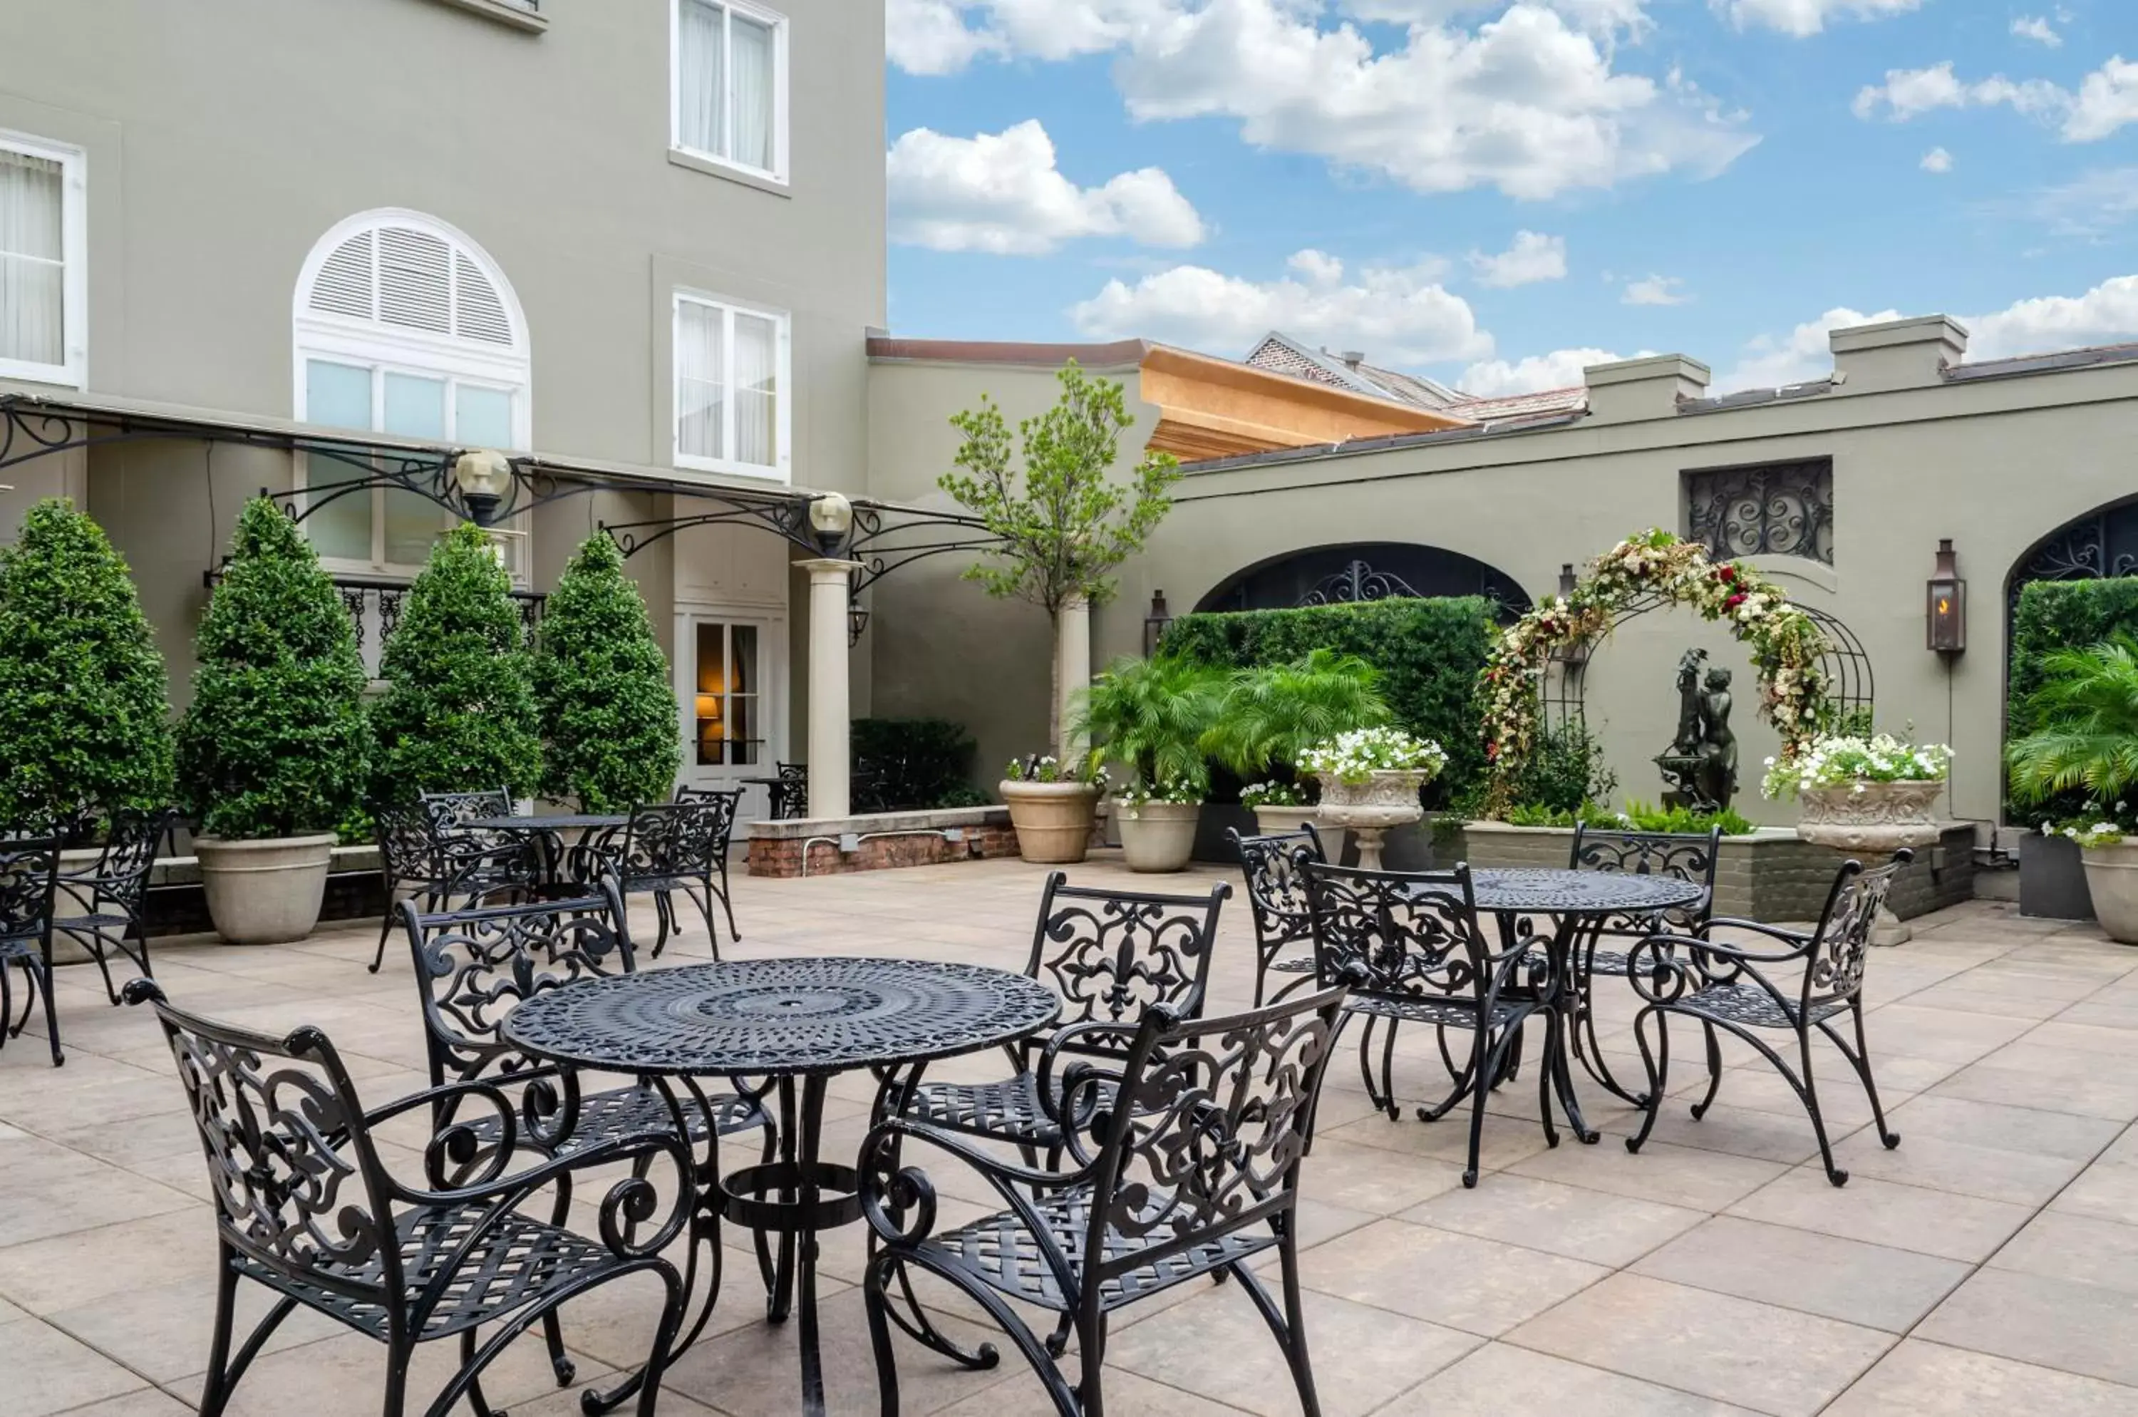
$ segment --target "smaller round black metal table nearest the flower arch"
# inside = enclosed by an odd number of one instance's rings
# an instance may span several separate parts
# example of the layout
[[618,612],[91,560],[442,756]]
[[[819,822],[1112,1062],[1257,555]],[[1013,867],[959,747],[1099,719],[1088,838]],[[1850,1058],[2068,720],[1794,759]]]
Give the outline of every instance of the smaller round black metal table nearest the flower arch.
[[[1582,1118],[1582,1103],[1574,1092],[1571,1049],[1578,1037],[1574,1011],[1589,990],[1589,981],[1580,979],[1576,968],[1578,947],[1584,934],[1601,930],[1614,917],[1646,917],[1687,906],[1700,900],[1700,887],[1676,876],[1518,868],[1475,870],[1471,889],[1477,896],[1477,910],[1499,919],[1501,940],[1507,945],[1520,938],[1524,915],[1552,921],[1550,934],[1539,934],[1550,957],[1548,987],[1554,998],[1544,1066],[1552,1073],[1552,1092],[1559,1096],[1559,1109],[1567,1114],[1567,1126],[1582,1141],[1595,1143],[1599,1133]],[[1550,1116],[1544,1118],[1544,1126],[1550,1131]]]

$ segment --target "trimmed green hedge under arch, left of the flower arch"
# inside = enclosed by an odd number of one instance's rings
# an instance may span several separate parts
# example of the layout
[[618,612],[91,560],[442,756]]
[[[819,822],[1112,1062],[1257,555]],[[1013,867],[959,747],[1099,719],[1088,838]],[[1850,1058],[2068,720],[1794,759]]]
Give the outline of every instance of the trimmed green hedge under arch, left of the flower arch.
[[1441,806],[1484,776],[1475,699],[1492,635],[1490,603],[1454,596],[1180,616],[1163,648],[1238,669],[1283,665],[1319,648],[1358,654],[1381,671],[1396,722],[1447,750],[1447,769],[1426,793],[1428,806]]

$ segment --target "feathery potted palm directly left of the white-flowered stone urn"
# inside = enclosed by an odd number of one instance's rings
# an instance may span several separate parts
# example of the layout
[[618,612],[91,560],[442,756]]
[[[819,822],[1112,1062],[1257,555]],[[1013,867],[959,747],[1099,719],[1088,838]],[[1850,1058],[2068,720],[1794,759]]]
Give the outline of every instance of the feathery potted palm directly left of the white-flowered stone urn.
[[[1240,801],[1255,812],[1264,834],[1298,831],[1315,819],[1313,778],[1300,769],[1300,759],[1338,733],[1390,718],[1373,665],[1355,654],[1315,650],[1289,665],[1234,671],[1202,748],[1251,782]],[[1257,780],[1264,774],[1270,778]]]

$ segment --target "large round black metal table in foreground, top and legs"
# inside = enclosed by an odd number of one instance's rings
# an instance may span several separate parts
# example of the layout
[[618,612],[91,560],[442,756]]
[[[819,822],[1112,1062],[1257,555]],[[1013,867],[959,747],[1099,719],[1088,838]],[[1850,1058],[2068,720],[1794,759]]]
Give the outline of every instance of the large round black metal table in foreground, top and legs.
[[[868,1069],[879,1109],[904,1107],[928,1062],[1013,1043],[1058,1011],[1045,985],[977,964],[738,960],[549,990],[513,1009],[502,1034],[537,1058],[652,1079],[678,1126],[686,1105],[706,1107],[697,1079],[770,1079],[778,1090],[778,1161],[723,1175],[716,1139],[706,1139],[686,1287],[693,1295],[699,1289],[699,1244],[712,1248],[712,1278],[676,1353],[706,1329],[721,1293],[718,1223],[757,1231],[759,1263],[765,1235],[778,1235],[765,1319],[800,1317],[802,1411],[821,1415],[817,1231],[862,1218],[855,1169],[819,1156],[825,1086],[836,1073]],[[614,1406],[635,1389],[631,1379],[590,1406]]]

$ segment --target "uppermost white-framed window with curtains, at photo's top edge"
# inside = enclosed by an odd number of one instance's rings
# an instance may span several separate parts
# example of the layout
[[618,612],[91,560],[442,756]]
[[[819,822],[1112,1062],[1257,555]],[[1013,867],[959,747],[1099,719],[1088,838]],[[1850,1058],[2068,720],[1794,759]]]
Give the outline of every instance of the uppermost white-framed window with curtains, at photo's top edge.
[[669,6],[669,145],[787,182],[787,17],[746,0]]

